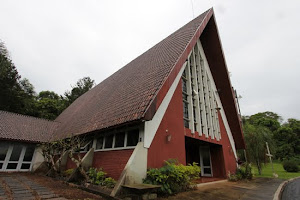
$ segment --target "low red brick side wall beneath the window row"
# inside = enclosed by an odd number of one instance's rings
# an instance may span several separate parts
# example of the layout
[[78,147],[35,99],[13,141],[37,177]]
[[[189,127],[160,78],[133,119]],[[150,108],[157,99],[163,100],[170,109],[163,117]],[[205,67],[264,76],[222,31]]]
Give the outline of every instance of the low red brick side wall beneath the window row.
[[95,152],[93,167],[102,168],[108,176],[118,180],[133,150],[134,149]]

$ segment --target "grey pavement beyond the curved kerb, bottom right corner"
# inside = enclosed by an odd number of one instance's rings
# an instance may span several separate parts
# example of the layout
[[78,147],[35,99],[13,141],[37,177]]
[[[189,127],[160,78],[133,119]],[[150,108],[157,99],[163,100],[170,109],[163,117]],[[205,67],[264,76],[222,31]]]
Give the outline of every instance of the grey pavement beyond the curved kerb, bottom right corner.
[[300,178],[289,182],[284,187],[281,200],[300,200]]

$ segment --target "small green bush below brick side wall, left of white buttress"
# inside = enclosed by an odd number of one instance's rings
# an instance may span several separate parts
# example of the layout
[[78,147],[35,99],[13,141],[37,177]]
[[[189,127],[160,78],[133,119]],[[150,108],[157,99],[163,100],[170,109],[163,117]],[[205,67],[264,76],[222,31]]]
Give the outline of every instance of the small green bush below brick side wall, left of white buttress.
[[111,177],[107,177],[106,175],[107,175],[107,173],[104,172],[101,168],[99,168],[99,169],[90,168],[88,171],[88,176],[89,176],[91,183],[96,184],[96,185],[105,186],[108,188],[115,187],[116,181]]

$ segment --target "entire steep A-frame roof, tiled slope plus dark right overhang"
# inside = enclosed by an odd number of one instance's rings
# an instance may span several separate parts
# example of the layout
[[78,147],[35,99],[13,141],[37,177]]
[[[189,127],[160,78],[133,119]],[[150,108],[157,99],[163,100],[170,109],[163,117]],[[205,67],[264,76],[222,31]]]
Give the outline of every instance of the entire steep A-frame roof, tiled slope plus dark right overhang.
[[79,97],[55,120],[60,122],[57,137],[151,120],[199,38],[216,86],[220,89],[219,96],[236,147],[244,148],[239,115],[212,8]]

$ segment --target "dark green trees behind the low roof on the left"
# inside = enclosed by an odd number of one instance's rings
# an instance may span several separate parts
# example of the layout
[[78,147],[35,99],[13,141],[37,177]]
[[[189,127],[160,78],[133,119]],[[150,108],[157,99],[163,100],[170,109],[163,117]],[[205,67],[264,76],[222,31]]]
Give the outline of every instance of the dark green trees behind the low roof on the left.
[[21,79],[0,41],[0,110],[54,120],[67,106],[95,85],[90,77],[79,79],[71,92],[59,96],[53,91],[36,94],[26,78]]

